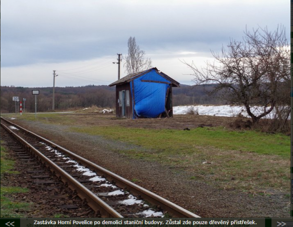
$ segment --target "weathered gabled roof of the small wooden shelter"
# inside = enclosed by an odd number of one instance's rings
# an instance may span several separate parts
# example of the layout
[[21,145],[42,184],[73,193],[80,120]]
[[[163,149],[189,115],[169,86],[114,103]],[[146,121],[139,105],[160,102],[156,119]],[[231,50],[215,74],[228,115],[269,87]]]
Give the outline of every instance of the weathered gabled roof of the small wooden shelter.
[[146,73],[150,72],[151,70],[155,70],[160,76],[162,76],[166,80],[170,81],[171,84],[172,84],[172,87],[179,87],[179,84],[180,84],[179,82],[173,80],[172,78],[167,76],[165,73],[159,71],[156,67],[150,68],[150,69],[147,69],[147,70],[143,70],[143,71],[139,71],[139,72],[135,72],[135,73],[130,73],[127,76],[121,78],[120,80],[109,84],[109,86],[115,86],[115,85],[120,85],[120,84],[123,84],[123,83],[129,83],[130,81],[132,81],[132,80],[134,80],[134,79],[136,79],[136,78],[138,78],[140,76],[145,75]]

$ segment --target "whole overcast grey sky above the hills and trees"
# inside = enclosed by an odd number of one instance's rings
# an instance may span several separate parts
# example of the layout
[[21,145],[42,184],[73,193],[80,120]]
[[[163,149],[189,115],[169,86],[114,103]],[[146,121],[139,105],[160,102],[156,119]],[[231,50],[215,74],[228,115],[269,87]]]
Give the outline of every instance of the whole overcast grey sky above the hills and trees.
[[[23,87],[102,85],[117,80],[117,53],[127,40],[153,66],[179,83],[230,38],[282,24],[290,35],[288,0],[2,0],[1,85]],[[126,76],[124,61],[121,77]]]

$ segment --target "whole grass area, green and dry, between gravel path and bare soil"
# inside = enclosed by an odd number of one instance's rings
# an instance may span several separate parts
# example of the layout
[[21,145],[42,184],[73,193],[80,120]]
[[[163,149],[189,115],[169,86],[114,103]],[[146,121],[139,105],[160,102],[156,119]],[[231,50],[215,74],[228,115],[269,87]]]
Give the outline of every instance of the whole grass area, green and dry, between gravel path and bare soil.
[[[171,166],[174,171],[184,171],[190,181],[251,195],[284,191],[290,197],[289,136],[221,126],[191,130],[146,129],[140,125],[101,126],[96,122],[103,121],[103,118],[95,116],[94,123],[88,123],[86,118],[42,114],[37,120],[68,125],[68,130],[74,132],[139,145],[146,149],[116,152],[132,159],[159,162]],[[22,116],[22,119],[35,121],[33,115]]]

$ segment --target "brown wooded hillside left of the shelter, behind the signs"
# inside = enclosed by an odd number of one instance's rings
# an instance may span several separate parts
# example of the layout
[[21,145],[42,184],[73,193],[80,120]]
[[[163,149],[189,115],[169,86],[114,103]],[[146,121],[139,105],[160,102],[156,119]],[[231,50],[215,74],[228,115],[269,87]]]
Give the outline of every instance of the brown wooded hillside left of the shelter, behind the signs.
[[[32,95],[33,89],[39,89],[40,95],[37,95],[38,112],[52,110],[53,88],[52,87],[13,87],[1,86],[0,108],[1,112],[15,112],[15,102],[12,97],[18,96],[20,101],[25,101],[25,111],[35,111],[35,95]],[[91,105],[101,107],[113,107],[115,104],[115,88],[106,85],[95,86],[87,85],[81,87],[55,87],[55,110],[67,110],[74,108],[84,108]],[[22,108],[24,103],[22,104]]]

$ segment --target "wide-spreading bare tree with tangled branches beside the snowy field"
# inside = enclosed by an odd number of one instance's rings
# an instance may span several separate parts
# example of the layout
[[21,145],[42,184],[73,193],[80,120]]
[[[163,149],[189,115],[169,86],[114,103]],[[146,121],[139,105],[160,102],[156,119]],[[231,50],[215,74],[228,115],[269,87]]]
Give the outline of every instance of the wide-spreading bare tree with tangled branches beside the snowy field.
[[287,97],[290,90],[286,86],[290,81],[290,48],[283,26],[274,32],[267,27],[252,32],[246,29],[244,34],[243,41],[230,39],[221,54],[211,51],[215,60],[207,62],[205,68],[198,69],[193,62],[183,63],[193,70],[195,84],[216,83],[210,95],[216,94],[231,104],[243,104],[256,123],[276,106],[280,109],[288,104],[280,91],[287,92]]

